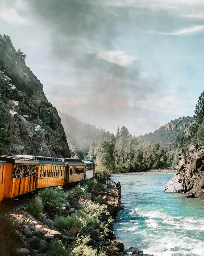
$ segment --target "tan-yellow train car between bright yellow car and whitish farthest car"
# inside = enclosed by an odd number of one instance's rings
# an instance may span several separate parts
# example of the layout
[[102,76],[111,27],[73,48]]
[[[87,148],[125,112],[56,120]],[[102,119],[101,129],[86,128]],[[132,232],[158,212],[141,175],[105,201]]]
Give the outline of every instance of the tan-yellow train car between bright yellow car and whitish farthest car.
[[81,159],[61,158],[61,160],[67,165],[65,184],[78,182],[86,178],[86,164]]

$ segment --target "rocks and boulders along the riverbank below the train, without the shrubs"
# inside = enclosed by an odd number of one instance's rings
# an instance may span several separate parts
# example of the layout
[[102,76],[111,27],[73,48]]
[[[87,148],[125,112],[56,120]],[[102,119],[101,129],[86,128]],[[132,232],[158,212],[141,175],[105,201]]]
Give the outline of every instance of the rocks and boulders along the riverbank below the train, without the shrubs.
[[[121,204],[118,205],[117,190],[111,189],[111,186],[104,185],[103,191],[98,192],[98,194],[92,196],[91,193],[85,193],[82,197],[77,198],[78,204],[75,207],[72,205],[71,207],[67,207],[65,204],[63,205],[62,211],[67,216],[75,216],[80,208],[85,207],[91,199],[99,204],[106,204],[109,215],[101,215],[101,222],[106,224],[106,226],[100,236],[97,227],[95,230],[88,232],[90,240],[87,245],[96,249],[98,252],[100,248],[103,248],[107,255],[125,255],[126,253],[123,252],[123,243],[115,240],[116,235],[113,232],[114,222],[109,223],[109,217],[117,221],[117,213],[123,209]],[[34,218],[27,211],[29,202],[30,199],[27,199],[26,203],[20,203],[18,206],[6,211],[6,213],[0,214],[0,218],[9,219],[15,224],[16,232],[24,241],[24,246],[18,248],[19,255],[46,256],[46,250],[49,250],[52,240],[66,241],[68,245],[77,240],[77,237],[67,236],[64,232],[57,230],[53,221],[53,213],[43,212],[38,219]],[[87,233],[82,233],[81,235],[87,235]],[[44,248],[44,251],[41,248]],[[142,251],[138,251],[133,247],[129,248],[128,252],[128,254],[132,255],[141,255],[142,253]]]

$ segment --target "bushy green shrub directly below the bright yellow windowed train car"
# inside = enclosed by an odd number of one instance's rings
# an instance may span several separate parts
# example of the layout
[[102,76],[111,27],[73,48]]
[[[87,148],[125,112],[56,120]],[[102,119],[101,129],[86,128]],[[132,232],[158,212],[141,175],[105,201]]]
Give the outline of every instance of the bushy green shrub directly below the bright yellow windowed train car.
[[44,188],[40,196],[46,209],[54,208],[58,212],[60,212],[62,205],[67,202],[66,195],[62,192],[62,188],[60,186]]

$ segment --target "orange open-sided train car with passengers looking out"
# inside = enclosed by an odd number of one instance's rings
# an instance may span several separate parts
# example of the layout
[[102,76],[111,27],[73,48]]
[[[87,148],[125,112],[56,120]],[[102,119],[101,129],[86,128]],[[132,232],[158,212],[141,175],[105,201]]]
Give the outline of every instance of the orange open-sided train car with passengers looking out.
[[35,190],[37,160],[0,155],[0,161],[6,161],[4,198],[12,198]]

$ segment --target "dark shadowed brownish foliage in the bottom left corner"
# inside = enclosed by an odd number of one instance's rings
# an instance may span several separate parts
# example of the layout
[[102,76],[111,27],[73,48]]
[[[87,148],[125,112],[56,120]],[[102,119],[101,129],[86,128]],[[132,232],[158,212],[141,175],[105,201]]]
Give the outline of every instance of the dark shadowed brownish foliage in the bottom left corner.
[[16,227],[6,218],[0,218],[0,255],[17,256],[17,248],[23,247],[22,238]]

